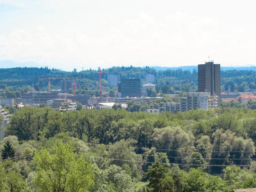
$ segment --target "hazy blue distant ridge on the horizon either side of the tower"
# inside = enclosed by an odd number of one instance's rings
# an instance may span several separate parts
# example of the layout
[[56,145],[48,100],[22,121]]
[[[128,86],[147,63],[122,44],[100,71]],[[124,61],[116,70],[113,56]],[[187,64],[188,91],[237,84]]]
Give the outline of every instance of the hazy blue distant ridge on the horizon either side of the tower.
[[[156,71],[164,71],[167,69],[172,69],[172,70],[177,70],[177,69],[181,69],[181,70],[190,70],[193,71],[194,69],[197,70],[197,66],[181,66],[181,67],[159,67],[159,66],[154,66],[154,67],[150,67],[150,68],[154,68]],[[221,71],[230,71],[230,70],[238,70],[238,71],[256,71],[256,66],[251,66],[251,67],[220,67]]]

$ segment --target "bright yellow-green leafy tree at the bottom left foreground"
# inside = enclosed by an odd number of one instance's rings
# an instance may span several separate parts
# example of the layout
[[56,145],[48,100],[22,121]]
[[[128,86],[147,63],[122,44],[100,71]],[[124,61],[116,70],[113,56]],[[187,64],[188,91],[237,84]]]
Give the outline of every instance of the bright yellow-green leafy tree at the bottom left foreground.
[[42,192],[88,192],[94,184],[92,165],[76,159],[71,145],[59,143],[53,154],[42,150],[35,154],[36,175],[34,184]]

